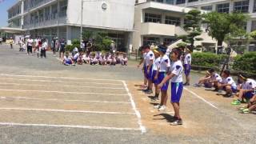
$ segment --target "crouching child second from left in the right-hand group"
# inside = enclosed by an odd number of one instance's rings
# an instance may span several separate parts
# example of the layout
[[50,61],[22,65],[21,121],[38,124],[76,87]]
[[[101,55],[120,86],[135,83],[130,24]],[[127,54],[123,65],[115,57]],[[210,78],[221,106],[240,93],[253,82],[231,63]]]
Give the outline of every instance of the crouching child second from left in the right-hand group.
[[218,82],[218,89],[225,90],[226,96],[231,97],[237,92],[237,84],[230,77],[230,70],[224,70],[222,73],[222,82]]

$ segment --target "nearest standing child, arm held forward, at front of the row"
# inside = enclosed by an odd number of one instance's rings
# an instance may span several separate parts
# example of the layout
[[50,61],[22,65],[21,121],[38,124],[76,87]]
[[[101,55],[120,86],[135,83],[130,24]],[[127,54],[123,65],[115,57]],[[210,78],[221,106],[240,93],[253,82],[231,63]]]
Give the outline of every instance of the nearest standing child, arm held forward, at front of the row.
[[171,104],[174,106],[174,122],[170,125],[177,126],[182,125],[182,118],[179,113],[180,99],[182,98],[183,82],[182,82],[182,62],[180,60],[182,55],[181,50],[175,48],[172,50],[170,56],[172,64],[170,66],[170,73],[159,84],[159,88],[165,85],[171,79]]

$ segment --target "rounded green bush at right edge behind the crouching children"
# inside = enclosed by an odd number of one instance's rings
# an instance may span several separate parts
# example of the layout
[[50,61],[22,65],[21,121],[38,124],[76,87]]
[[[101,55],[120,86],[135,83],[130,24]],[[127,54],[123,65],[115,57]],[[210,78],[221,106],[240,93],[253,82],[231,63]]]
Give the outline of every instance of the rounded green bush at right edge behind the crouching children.
[[233,69],[256,74],[256,52],[250,52],[234,58]]

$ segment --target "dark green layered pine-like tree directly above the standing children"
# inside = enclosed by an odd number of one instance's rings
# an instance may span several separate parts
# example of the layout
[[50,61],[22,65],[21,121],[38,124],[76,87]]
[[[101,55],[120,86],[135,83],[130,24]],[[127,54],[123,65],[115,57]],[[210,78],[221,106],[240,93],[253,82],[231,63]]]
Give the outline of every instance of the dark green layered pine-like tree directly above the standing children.
[[190,10],[185,15],[185,21],[183,28],[188,34],[181,35],[178,39],[182,39],[183,42],[186,42],[187,45],[190,45],[190,49],[193,51],[195,49],[194,42],[202,41],[202,38],[197,38],[202,34],[201,22],[202,14],[200,10]]

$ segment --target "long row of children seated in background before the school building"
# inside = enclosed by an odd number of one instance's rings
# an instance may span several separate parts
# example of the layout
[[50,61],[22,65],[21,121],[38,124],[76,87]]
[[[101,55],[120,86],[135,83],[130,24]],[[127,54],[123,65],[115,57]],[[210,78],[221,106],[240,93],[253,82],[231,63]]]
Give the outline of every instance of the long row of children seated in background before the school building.
[[[67,60],[66,60],[67,59]],[[71,61],[70,61],[71,60]],[[66,53],[64,57],[63,64],[67,62],[71,62],[71,64],[77,63],[78,65],[82,65],[83,63],[90,65],[110,65],[115,66],[116,64],[121,64],[122,66],[127,66],[128,58],[124,53],[116,53],[116,54],[102,54],[100,51],[91,52],[90,54],[86,54],[84,52],[78,52],[74,54],[74,56],[70,56],[69,53]]]

